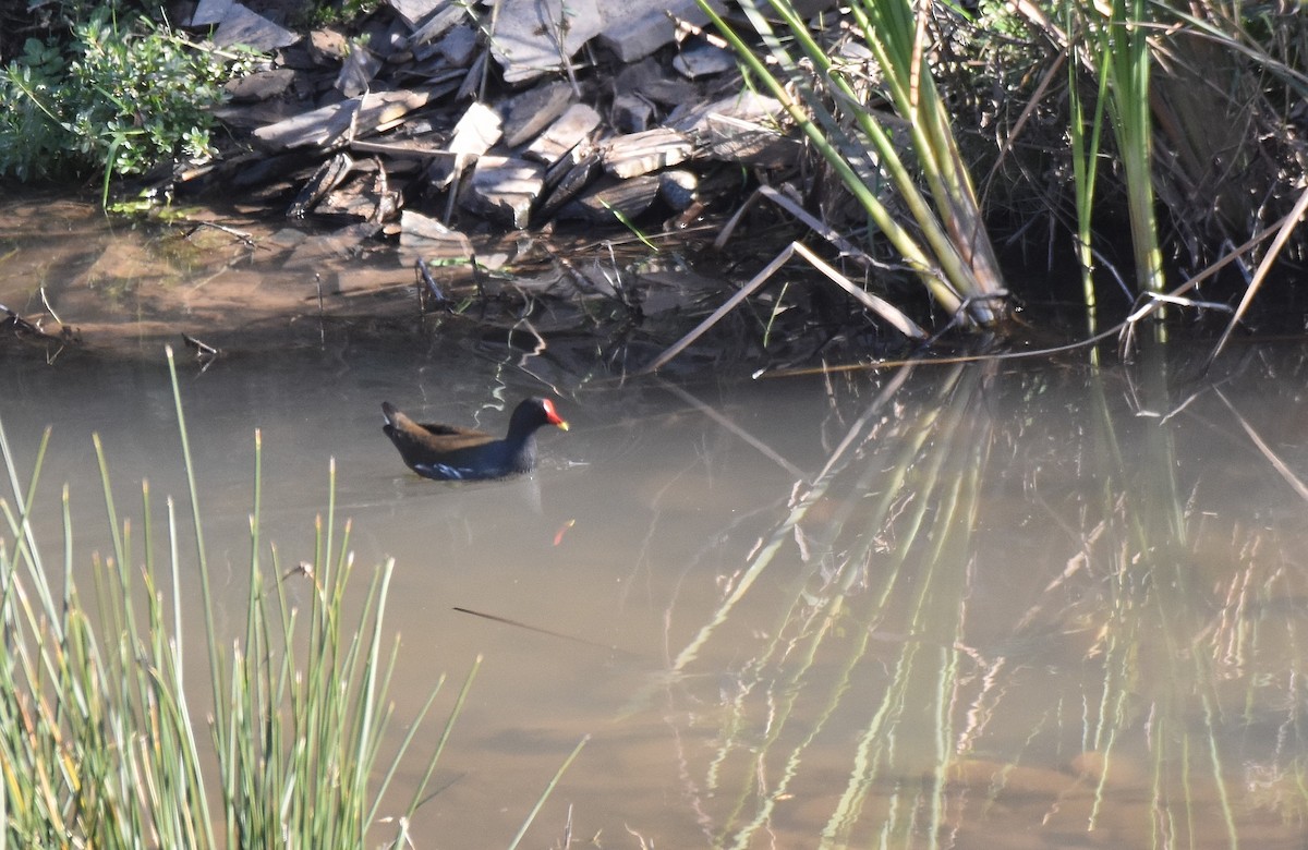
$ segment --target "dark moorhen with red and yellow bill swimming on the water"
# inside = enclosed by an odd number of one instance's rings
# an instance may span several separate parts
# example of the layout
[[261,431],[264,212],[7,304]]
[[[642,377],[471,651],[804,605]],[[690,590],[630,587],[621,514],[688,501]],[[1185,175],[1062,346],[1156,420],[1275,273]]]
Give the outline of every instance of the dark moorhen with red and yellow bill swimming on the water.
[[386,417],[382,430],[400,450],[404,463],[413,472],[439,481],[502,479],[531,472],[536,466],[536,429],[557,425],[568,430],[568,422],[549,399],[526,399],[514,408],[504,439],[471,428],[415,422],[390,401],[382,401],[382,415]]

